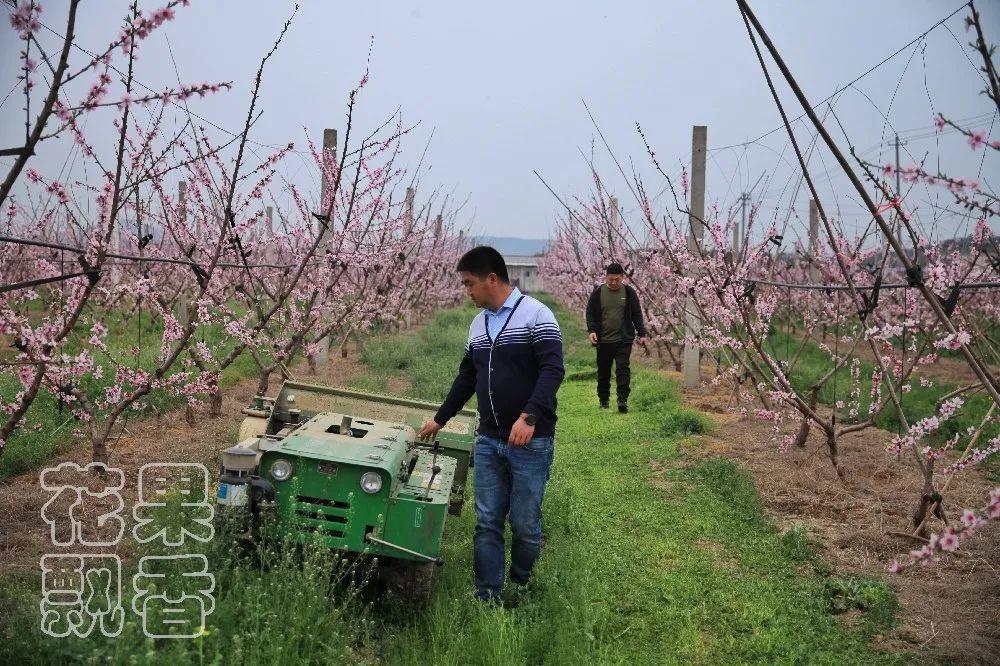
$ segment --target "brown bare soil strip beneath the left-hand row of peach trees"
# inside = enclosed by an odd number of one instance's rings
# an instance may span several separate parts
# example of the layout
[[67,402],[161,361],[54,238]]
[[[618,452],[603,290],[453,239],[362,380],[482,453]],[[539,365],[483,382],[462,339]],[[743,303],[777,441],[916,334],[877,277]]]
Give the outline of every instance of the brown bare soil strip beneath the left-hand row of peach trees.
[[[336,350],[332,350],[329,361],[321,366],[315,375],[307,374],[305,364],[296,367],[296,379],[316,381],[333,386],[344,386],[352,378],[358,376],[363,365],[358,360],[358,354],[351,351],[348,358],[341,358]],[[278,387],[276,378],[271,380],[271,393]],[[240,380],[236,384],[222,390],[222,415],[212,418],[208,415],[207,404],[195,409],[196,425],[188,426],[184,419],[184,408],[163,415],[153,416],[141,421],[135,419],[126,424],[126,430],[120,438],[110,443],[112,467],[124,472],[125,487],[121,496],[125,501],[122,518],[126,530],[131,528],[130,509],[136,499],[136,483],[139,468],[150,462],[200,462],[208,467],[209,474],[214,478],[223,449],[235,443],[237,430],[244,416],[240,411],[249,404],[257,389],[255,377]],[[59,456],[58,462],[72,461],[81,466],[91,460],[89,442],[83,438],[76,439],[70,445],[69,451]],[[58,464],[52,461],[51,465]],[[95,489],[96,490],[96,489]],[[16,477],[0,480],[0,575],[6,573],[27,574],[38,571],[39,558],[47,552],[55,552],[48,525],[42,518],[42,508],[52,494],[39,485],[39,472],[27,472]],[[62,501],[59,498],[58,501]],[[82,517],[94,519],[104,513],[107,502],[96,502],[88,499],[84,503]],[[68,506],[53,505],[52,513],[68,515]],[[68,524],[68,523],[67,523]],[[67,524],[59,525],[56,536],[68,535]],[[110,539],[109,539],[110,540]],[[129,545],[132,540],[126,536],[117,547],[117,551],[109,548],[94,548],[74,546],[72,552],[101,552],[110,554],[116,552],[125,558],[129,555]]]

